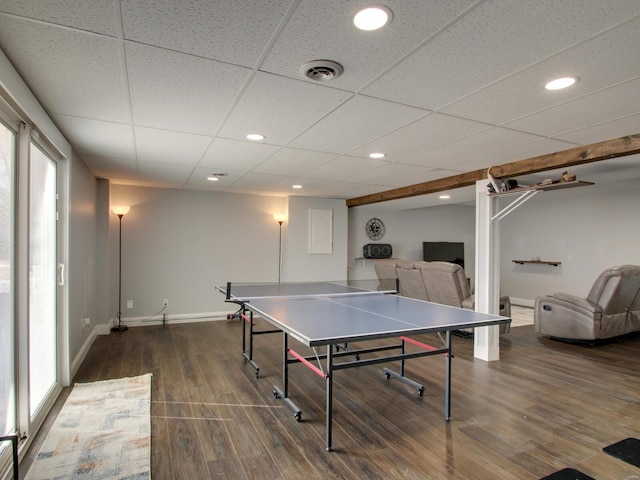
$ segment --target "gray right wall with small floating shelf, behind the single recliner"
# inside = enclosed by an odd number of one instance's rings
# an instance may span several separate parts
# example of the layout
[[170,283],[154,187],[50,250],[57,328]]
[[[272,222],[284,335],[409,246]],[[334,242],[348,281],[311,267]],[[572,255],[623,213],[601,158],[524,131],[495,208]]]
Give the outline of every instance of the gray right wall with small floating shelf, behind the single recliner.
[[[512,301],[565,292],[585,297],[614,265],[640,265],[640,183],[543,192],[501,221],[501,286]],[[558,267],[516,259],[560,261]]]

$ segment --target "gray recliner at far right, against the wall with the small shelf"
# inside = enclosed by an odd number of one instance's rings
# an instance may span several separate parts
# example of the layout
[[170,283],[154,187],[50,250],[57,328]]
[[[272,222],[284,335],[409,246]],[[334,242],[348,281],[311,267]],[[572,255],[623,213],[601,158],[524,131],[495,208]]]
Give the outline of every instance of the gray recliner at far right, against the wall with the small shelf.
[[536,298],[538,333],[564,340],[596,341],[640,331],[640,266],[600,274],[586,298],[568,293]]

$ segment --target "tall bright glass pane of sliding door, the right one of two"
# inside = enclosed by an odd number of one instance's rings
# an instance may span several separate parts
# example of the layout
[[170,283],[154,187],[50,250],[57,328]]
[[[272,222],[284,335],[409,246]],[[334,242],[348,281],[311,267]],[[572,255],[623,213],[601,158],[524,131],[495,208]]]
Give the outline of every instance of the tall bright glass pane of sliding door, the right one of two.
[[29,404],[38,410],[57,380],[56,167],[31,145],[29,172]]

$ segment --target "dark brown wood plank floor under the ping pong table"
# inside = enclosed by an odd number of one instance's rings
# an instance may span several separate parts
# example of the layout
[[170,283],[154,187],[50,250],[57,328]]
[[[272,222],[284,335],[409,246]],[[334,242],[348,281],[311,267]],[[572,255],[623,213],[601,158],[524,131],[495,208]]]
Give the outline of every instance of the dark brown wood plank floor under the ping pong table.
[[[281,336],[263,335],[260,378],[242,362],[237,320],[132,328],[98,337],[76,382],[153,373],[152,476],[164,479],[537,479],[565,467],[596,479],[637,479],[640,469],[602,448],[640,437],[640,338],[599,347],[501,336],[501,359],[473,358],[453,342],[452,419],[444,420],[444,358],[408,363],[423,397],[379,366],[334,377],[335,451],[324,448],[324,383],[291,372],[291,411],[280,384]],[[435,344],[437,337],[423,341]],[[295,343],[295,342],[293,342]],[[296,344],[297,345],[297,344]],[[59,399],[47,419],[68,395]],[[37,452],[41,432],[23,461]]]

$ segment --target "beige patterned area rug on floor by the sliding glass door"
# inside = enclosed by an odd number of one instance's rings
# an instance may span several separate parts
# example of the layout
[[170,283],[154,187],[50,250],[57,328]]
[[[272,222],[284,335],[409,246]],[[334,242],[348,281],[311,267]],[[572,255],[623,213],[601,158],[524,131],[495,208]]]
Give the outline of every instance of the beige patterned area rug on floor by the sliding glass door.
[[151,478],[151,374],[76,384],[27,480]]

